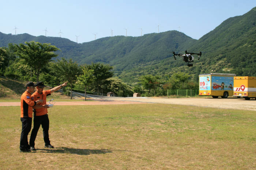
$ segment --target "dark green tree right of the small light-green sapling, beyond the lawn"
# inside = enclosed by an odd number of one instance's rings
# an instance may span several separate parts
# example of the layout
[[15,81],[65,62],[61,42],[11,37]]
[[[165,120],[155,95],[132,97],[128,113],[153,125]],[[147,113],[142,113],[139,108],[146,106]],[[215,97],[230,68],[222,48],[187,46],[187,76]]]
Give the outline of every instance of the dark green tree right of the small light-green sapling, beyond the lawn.
[[99,89],[101,86],[108,84],[109,81],[107,79],[114,75],[113,71],[110,71],[113,67],[108,64],[92,63],[91,65],[88,65],[88,69],[93,70],[93,75],[95,77],[94,84],[99,95]]

